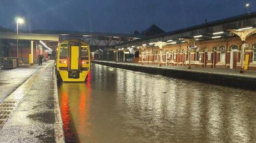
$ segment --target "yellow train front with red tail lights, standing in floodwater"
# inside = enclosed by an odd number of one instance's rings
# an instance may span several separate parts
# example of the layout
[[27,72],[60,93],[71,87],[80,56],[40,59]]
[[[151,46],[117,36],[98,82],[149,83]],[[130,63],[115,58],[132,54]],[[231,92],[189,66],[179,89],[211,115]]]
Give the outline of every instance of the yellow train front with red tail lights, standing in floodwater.
[[84,82],[90,70],[89,44],[80,39],[59,43],[56,59],[57,77],[63,82]]

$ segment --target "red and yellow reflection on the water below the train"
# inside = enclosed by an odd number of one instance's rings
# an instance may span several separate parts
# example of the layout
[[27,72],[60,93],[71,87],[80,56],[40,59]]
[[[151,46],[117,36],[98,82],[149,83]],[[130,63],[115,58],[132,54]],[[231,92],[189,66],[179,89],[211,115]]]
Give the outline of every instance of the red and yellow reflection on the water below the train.
[[60,109],[66,142],[82,142],[90,134],[90,73],[85,83],[65,83],[60,87]]

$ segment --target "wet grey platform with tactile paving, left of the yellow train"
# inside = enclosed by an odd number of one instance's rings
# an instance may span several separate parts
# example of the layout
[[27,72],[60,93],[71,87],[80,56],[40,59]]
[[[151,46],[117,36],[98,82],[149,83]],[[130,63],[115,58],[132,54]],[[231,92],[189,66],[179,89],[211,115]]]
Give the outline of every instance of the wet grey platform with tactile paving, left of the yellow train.
[[54,61],[0,73],[0,142],[64,143]]

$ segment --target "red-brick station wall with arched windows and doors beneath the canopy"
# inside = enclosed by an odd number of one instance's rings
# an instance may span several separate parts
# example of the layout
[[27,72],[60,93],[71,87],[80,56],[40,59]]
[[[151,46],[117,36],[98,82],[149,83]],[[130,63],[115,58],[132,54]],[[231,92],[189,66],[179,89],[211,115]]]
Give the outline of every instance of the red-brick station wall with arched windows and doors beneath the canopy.
[[[256,35],[248,37],[245,41],[244,55],[249,55],[248,70],[256,71]],[[189,52],[191,66],[207,68],[241,68],[241,47],[242,42],[238,37],[220,38],[215,40],[198,41],[196,49],[189,51],[188,44],[166,45],[162,49],[158,46],[145,48],[140,52],[139,63],[161,64],[170,66],[188,66]],[[245,59],[245,58],[244,58]]]

